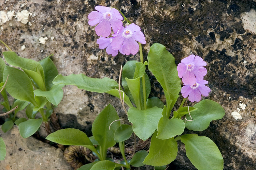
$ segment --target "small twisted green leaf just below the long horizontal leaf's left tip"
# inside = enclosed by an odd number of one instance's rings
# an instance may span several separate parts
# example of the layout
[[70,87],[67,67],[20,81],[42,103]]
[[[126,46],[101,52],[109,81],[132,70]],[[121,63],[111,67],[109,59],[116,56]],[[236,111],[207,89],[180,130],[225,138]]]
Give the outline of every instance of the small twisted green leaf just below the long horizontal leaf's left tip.
[[52,104],[57,106],[63,97],[62,87],[64,87],[64,86],[65,85],[63,83],[58,84],[58,85],[53,85],[51,90],[49,90],[49,91],[42,91],[41,89],[36,89],[36,90],[34,90],[34,94],[36,96],[46,97],[46,99],[49,102],[51,102]]

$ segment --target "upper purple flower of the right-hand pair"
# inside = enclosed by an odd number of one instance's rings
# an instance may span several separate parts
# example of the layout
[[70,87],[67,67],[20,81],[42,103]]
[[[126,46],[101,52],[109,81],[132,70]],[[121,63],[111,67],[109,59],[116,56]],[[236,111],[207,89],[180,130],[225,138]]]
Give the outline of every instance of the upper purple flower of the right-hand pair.
[[203,66],[206,63],[198,55],[189,55],[184,58],[177,66],[179,78],[182,78],[183,84],[189,84],[193,86],[197,81],[203,80],[207,70]]

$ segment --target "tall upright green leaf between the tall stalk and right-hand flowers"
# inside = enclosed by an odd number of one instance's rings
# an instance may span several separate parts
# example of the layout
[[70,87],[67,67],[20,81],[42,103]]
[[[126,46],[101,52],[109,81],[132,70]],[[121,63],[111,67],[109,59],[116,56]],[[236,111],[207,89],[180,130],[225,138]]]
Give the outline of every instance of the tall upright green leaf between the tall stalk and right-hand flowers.
[[165,90],[165,96],[168,94],[172,100],[170,106],[167,105],[167,115],[170,115],[181,91],[181,79],[178,76],[175,58],[166,50],[165,46],[155,43],[150,47],[147,60],[148,69]]

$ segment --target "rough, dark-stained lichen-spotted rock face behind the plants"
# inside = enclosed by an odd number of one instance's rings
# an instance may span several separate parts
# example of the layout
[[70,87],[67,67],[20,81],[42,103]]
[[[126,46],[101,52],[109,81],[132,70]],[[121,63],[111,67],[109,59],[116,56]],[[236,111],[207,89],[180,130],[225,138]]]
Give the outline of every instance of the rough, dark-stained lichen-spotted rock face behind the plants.
[[[53,53],[52,60],[62,75],[84,73],[118,81],[121,65],[139,61],[139,54],[112,57],[98,48],[95,27],[89,26],[87,19],[97,5],[117,7],[141,27],[147,42],[143,46],[145,61],[150,46],[160,43],[172,53],[176,64],[190,53],[207,62],[205,80],[211,92],[206,98],[222,105],[226,114],[203,132],[185,133],[211,138],[223,155],[224,169],[255,169],[255,1],[1,1],[6,16],[9,11],[15,11],[14,15],[24,10],[29,13],[26,24],[15,16],[9,21],[8,16],[5,20],[1,17],[1,40],[18,55],[35,61]],[[6,50],[1,44],[1,52]],[[150,71],[147,74],[150,97],[165,101],[160,84]],[[64,128],[89,131],[109,103],[125,118],[116,97],[75,86],[63,90],[55,111]],[[180,97],[177,103],[181,101]],[[233,112],[241,119],[235,119]],[[184,145],[179,143],[179,147],[172,169],[195,169],[186,158]],[[1,162],[1,166],[7,165]]]

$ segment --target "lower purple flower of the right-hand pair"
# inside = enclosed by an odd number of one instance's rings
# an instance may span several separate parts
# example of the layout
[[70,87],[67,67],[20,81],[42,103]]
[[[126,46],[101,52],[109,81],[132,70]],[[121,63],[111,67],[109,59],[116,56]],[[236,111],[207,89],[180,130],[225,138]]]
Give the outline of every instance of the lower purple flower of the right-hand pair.
[[188,96],[188,100],[190,102],[194,102],[194,101],[199,102],[202,98],[201,95],[206,97],[209,95],[209,92],[211,91],[211,89],[205,86],[205,84],[208,84],[208,81],[206,80],[196,81],[196,83],[193,86],[184,85],[181,88],[181,94],[184,98]]

